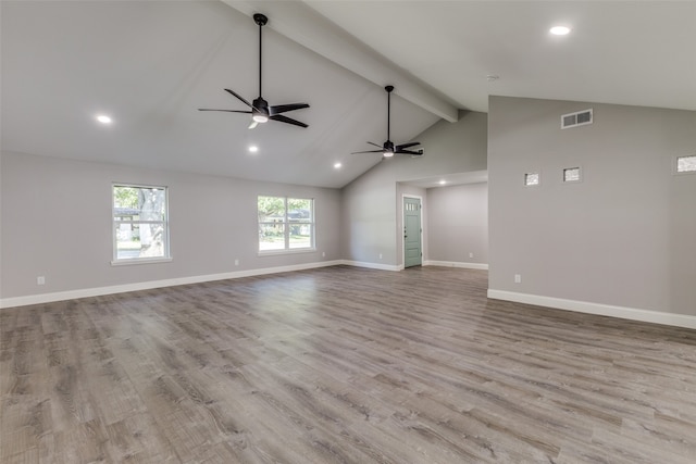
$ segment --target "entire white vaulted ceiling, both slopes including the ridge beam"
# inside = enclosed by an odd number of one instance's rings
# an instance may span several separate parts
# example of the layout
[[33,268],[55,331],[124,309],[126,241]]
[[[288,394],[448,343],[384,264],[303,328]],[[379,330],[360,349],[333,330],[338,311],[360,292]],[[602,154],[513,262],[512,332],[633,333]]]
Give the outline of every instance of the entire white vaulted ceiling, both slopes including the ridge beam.
[[[2,1],[2,150],[341,187],[488,95],[696,110],[696,2]],[[308,102],[247,129],[223,91]],[[572,33],[552,37],[567,24]],[[386,58],[385,58],[386,57]],[[348,71],[349,70],[349,71]],[[499,78],[488,81],[487,75]],[[101,126],[98,113],[114,123]],[[260,151],[250,154],[247,147]],[[334,163],[341,162],[340,170]]]

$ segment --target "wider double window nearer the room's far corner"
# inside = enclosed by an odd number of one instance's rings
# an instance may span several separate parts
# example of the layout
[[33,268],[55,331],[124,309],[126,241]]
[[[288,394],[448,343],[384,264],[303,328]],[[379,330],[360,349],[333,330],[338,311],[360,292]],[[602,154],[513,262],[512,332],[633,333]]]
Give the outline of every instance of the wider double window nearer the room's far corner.
[[314,249],[314,200],[259,197],[259,251]]

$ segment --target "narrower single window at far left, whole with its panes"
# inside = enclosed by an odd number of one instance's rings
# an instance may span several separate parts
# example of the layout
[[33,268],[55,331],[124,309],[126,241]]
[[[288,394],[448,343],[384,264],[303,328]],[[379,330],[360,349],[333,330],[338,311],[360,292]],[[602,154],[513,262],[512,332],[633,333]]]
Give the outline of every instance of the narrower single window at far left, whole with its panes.
[[113,262],[170,258],[166,187],[113,186]]

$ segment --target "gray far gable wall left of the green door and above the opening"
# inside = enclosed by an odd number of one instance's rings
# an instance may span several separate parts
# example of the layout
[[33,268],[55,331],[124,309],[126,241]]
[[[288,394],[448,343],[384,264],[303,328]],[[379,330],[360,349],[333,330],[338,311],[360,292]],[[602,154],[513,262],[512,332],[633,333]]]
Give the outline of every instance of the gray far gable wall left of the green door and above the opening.
[[401,197],[397,183],[485,171],[486,137],[485,113],[463,113],[457,123],[440,121],[417,137],[425,148],[423,158],[395,156],[346,186],[343,190],[344,258],[401,265]]

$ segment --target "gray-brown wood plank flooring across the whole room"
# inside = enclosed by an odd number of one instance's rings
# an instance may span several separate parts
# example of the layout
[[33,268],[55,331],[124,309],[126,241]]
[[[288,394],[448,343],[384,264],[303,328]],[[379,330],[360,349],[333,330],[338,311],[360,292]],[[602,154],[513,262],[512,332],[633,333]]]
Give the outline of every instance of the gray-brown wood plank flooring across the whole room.
[[0,311],[2,463],[696,463],[696,331],[348,266]]

